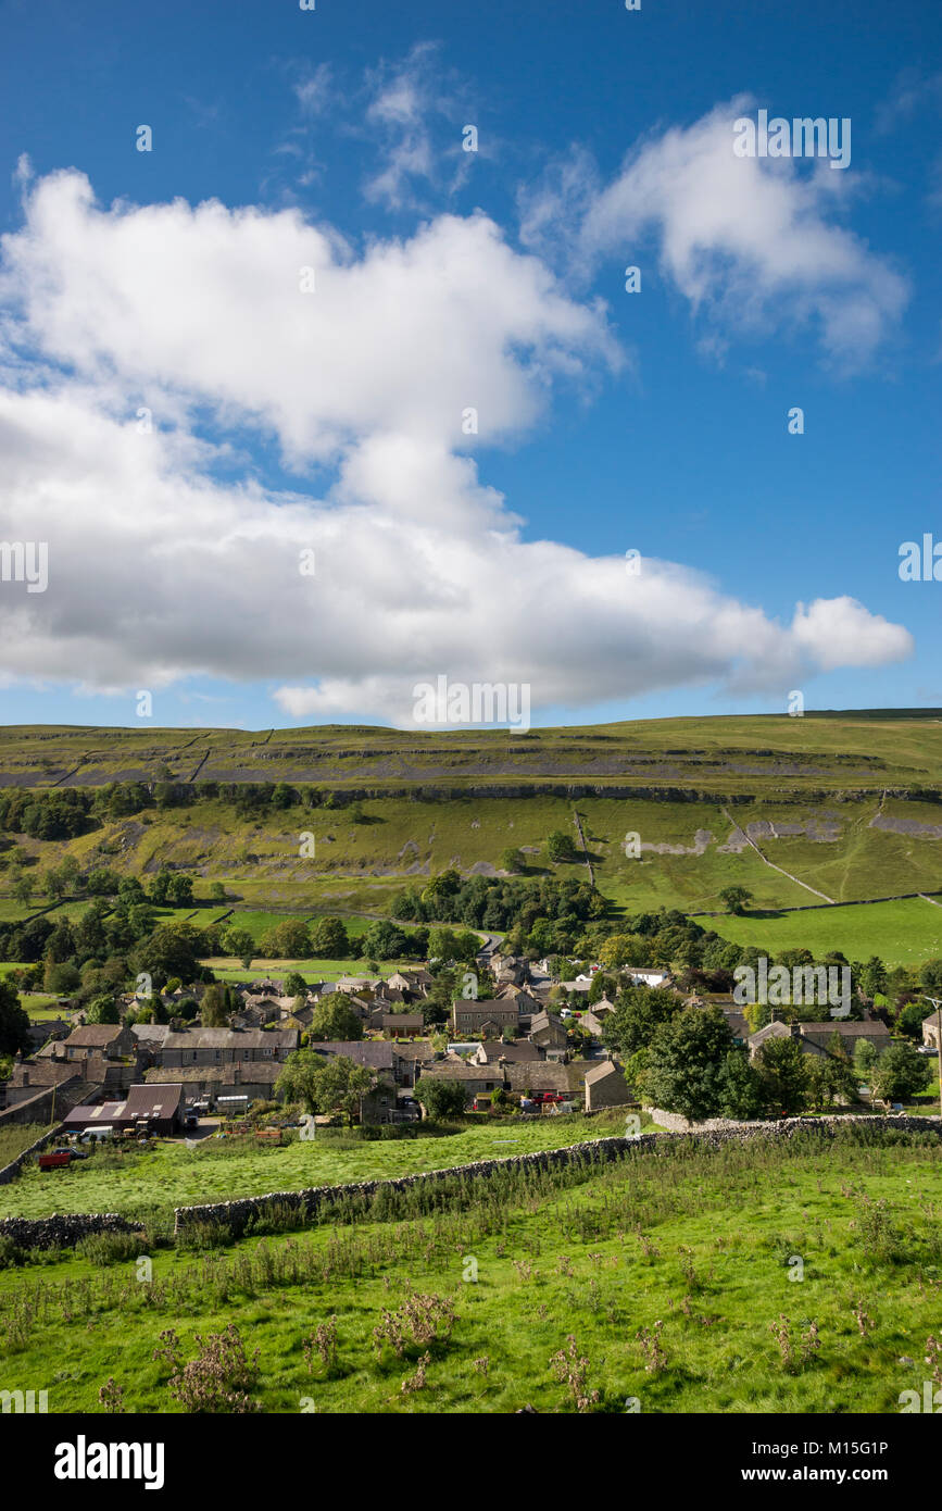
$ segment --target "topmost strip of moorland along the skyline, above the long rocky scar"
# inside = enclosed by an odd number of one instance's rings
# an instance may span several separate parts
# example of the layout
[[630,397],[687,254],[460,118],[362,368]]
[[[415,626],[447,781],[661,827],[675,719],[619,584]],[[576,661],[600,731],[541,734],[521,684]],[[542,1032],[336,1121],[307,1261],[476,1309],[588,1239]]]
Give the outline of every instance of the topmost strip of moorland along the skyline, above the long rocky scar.
[[895,787],[942,780],[937,709],[645,719],[578,728],[406,733],[380,727],[160,730],[8,725],[11,786],[155,781],[303,781],[394,786],[581,777],[738,790]]

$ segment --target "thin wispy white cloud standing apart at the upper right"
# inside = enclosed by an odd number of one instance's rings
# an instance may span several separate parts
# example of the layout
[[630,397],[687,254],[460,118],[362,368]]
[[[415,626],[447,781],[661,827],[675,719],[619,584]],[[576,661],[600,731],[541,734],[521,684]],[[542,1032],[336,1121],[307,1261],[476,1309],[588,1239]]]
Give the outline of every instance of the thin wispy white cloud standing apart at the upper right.
[[845,174],[734,154],[734,121],[755,109],[740,95],[652,133],[607,184],[574,150],[522,196],[522,234],[534,249],[556,245],[575,270],[613,252],[639,261],[654,245],[663,275],[706,322],[708,346],[806,325],[829,363],[860,367],[892,334],[906,281],[836,222],[857,192]]

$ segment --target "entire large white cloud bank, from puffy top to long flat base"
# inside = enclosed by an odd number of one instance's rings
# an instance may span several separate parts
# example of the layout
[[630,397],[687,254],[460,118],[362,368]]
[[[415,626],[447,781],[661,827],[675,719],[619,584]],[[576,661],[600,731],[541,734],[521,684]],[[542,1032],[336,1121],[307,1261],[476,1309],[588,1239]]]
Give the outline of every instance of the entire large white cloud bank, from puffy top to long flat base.
[[[556,385],[623,355],[605,311],[485,216],[356,255],[294,210],[103,210],[80,174],[56,174],[3,239],[0,295],[0,532],[50,552],[45,594],[0,597],[14,675],[263,681],[294,718],[408,727],[414,686],[439,674],[528,683],[539,716],[691,683],[782,697],[910,650],[853,600],[782,626],[670,562],[630,576],[524,538],[462,413],[507,441]],[[234,428],[329,480],[261,487]]]

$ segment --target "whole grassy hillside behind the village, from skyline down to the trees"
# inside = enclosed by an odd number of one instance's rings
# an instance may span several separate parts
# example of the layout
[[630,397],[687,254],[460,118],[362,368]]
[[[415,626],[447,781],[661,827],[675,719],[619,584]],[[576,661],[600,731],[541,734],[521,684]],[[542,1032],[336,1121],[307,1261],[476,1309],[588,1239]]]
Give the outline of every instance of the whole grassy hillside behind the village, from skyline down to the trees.
[[[494,875],[509,845],[534,876],[590,866],[602,893],[630,913],[711,911],[731,882],[762,910],[797,907],[814,891],[848,902],[942,885],[942,716],[931,709],[527,734],[0,730],[3,787],[116,780],[174,781],[199,798],[103,819],[71,840],[18,837],[27,869],[39,875],[65,852],[121,875],[183,867],[205,879],[198,896],[222,881],[228,902],[213,916],[231,908],[254,932],[287,913],[388,914],[415,878],[448,866]],[[251,814],[201,787],[248,781],[316,787],[323,801]],[[361,814],[349,805],[355,793]],[[550,866],[546,836],[575,833],[577,817],[584,860]],[[300,855],[303,833],[314,833],[314,855]],[[637,860],[625,855],[630,833],[640,839]],[[0,896],[0,919],[23,916],[17,908]]]

